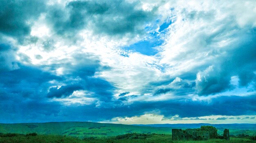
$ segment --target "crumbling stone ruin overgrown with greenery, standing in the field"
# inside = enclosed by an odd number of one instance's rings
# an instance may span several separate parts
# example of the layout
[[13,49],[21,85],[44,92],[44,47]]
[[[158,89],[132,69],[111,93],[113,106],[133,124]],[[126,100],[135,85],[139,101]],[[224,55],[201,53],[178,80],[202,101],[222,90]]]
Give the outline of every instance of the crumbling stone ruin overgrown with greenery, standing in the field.
[[[210,127],[210,128],[209,128]],[[229,140],[229,130],[225,129],[223,136],[218,136],[216,128],[198,128],[198,129],[172,129],[173,141],[182,140],[208,140],[208,139],[226,139]]]

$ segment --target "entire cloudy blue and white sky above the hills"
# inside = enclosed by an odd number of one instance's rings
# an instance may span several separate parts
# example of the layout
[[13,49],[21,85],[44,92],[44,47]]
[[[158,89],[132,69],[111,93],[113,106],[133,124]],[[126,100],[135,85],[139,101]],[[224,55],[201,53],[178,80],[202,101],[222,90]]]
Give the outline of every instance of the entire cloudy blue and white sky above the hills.
[[0,123],[256,123],[256,0],[2,0]]

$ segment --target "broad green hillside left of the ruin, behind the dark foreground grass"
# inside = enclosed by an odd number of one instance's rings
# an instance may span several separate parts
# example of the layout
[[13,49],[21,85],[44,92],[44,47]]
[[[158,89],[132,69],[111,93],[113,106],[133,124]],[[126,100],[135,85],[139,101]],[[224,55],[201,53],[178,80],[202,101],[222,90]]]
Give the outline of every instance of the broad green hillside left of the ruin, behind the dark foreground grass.
[[1,133],[59,134],[73,137],[113,137],[126,133],[171,134],[171,128],[141,127],[123,124],[104,124],[94,122],[49,122],[0,124]]

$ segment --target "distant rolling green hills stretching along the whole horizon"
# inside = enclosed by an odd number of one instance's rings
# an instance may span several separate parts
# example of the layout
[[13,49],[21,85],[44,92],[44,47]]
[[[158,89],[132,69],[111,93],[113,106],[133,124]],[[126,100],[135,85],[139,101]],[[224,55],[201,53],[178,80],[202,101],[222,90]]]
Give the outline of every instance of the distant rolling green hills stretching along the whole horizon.
[[210,125],[218,129],[222,134],[225,128],[230,130],[230,134],[256,133],[256,124],[150,124],[150,125],[123,125],[105,124],[94,122],[49,122],[49,123],[20,123],[20,124],[0,124],[0,133],[20,133],[27,134],[36,132],[38,134],[58,134],[74,137],[112,137],[126,133],[156,133],[171,134],[173,128],[200,128],[200,126]]

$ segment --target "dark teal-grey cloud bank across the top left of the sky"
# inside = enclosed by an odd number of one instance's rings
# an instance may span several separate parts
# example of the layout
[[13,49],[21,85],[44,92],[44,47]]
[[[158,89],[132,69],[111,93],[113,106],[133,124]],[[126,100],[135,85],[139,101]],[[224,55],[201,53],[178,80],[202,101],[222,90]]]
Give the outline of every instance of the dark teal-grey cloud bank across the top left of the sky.
[[[20,42],[36,42],[29,36],[31,26],[41,13],[47,13],[48,24],[59,35],[71,37],[79,30],[92,29],[95,34],[118,35],[120,37],[144,34],[145,24],[155,18],[153,11],[137,9],[139,2],[71,1],[61,7],[47,5],[46,0],[3,0],[0,6],[0,33],[17,38]],[[26,43],[26,42],[25,42]],[[46,50],[52,41],[43,42]]]

